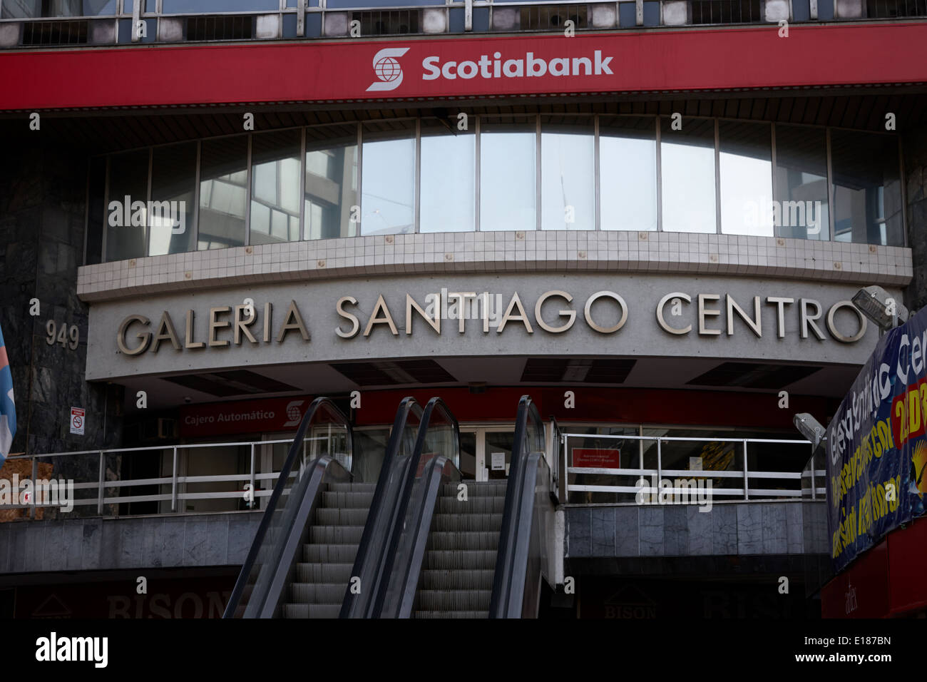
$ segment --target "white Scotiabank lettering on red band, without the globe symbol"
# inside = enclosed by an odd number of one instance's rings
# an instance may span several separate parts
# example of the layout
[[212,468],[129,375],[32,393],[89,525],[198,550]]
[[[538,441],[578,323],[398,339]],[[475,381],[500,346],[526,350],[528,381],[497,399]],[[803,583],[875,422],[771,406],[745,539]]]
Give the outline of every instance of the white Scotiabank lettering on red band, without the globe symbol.
[[422,61],[425,73],[422,79],[434,81],[438,78],[455,80],[457,78],[531,78],[544,75],[552,76],[601,76],[612,75],[612,58],[602,58],[602,50],[595,50],[592,57],[557,57],[552,59],[536,58],[528,52],[524,58],[503,59],[501,52],[480,55],[475,61],[445,61],[439,57],[426,57]]

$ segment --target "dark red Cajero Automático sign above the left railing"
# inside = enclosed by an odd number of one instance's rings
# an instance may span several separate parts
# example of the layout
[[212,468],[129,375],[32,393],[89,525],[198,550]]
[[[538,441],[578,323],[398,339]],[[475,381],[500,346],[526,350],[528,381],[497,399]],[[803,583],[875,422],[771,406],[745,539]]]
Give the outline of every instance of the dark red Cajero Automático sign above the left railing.
[[180,435],[190,438],[296,431],[311,402],[311,397],[303,396],[184,406],[180,411]]

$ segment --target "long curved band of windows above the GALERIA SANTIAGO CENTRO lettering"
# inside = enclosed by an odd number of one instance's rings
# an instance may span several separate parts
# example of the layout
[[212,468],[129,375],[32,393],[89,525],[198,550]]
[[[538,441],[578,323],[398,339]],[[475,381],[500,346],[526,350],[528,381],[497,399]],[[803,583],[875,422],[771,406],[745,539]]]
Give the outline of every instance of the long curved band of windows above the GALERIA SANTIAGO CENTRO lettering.
[[115,261],[415,232],[663,231],[883,246],[906,238],[897,137],[818,126],[436,111],[94,163],[88,264],[101,252]]

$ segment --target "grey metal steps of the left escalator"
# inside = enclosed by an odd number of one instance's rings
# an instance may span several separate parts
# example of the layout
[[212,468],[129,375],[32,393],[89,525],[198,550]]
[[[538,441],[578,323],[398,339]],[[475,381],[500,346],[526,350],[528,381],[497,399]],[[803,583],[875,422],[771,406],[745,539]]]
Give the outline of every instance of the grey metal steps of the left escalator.
[[374,500],[375,483],[329,483],[289,586],[285,618],[337,618]]

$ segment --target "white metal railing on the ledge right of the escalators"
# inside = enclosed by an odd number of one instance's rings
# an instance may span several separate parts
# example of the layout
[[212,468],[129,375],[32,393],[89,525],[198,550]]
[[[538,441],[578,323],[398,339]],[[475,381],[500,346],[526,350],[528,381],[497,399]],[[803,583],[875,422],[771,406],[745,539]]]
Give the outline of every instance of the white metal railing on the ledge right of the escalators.
[[[576,467],[573,466],[571,441],[636,441],[641,447],[636,457],[638,467],[630,468],[597,468],[597,467]],[[655,468],[646,468],[643,466],[644,443],[656,444]],[[734,458],[729,466],[740,465],[739,469],[733,470],[679,470],[663,468],[663,446],[667,443],[719,443],[725,444],[727,450],[734,449]],[[761,500],[781,499],[781,498],[800,498],[807,499],[824,499],[826,489],[819,486],[819,480],[826,476],[824,470],[804,470],[804,471],[777,471],[777,470],[750,470],[748,463],[748,447],[750,444],[779,444],[783,446],[806,445],[810,454],[811,444],[804,440],[785,440],[770,438],[697,438],[697,437],[678,437],[678,436],[640,436],[640,435],[602,435],[590,433],[560,433],[560,452],[558,453],[557,470],[565,472],[565,475],[559,475],[559,487],[562,493],[561,502],[576,504],[575,496],[571,497],[570,493],[611,493],[624,495],[678,495],[683,499],[689,496],[694,504],[694,490],[692,487],[676,487],[679,479],[684,481],[693,480],[695,483],[701,480],[730,479],[737,480],[739,485],[733,487],[712,487],[710,495],[713,497],[723,496],[730,499],[742,500],[747,502],[758,502]],[[740,450],[740,457],[737,457],[736,450]],[[654,457],[654,454],[649,455]],[[737,460],[740,459],[738,462]],[[611,483],[571,483],[576,481],[576,476],[602,476],[602,477],[637,477],[634,485],[611,484]],[[643,480],[642,483],[641,479]],[[751,486],[751,480],[768,482],[784,482],[779,487],[760,487],[762,483],[755,483]],[[651,483],[656,482],[656,487]],[[661,482],[669,481],[667,487],[663,487]],[[768,483],[767,483],[768,485]],[[628,504],[638,504],[636,501],[628,501]],[[617,502],[617,504],[623,504]]]

